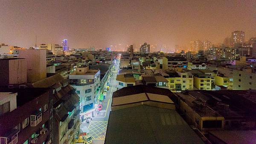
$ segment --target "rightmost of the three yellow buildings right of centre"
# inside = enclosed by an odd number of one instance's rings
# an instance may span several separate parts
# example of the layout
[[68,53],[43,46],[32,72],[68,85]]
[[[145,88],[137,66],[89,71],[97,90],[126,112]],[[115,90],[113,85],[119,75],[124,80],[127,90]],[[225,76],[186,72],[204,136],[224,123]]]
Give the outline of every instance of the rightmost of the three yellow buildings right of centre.
[[216,75],[215,76],[215,85],[216,86],[225,86],[225,87],[227,87],[227,89],[233,89],[233,78]]

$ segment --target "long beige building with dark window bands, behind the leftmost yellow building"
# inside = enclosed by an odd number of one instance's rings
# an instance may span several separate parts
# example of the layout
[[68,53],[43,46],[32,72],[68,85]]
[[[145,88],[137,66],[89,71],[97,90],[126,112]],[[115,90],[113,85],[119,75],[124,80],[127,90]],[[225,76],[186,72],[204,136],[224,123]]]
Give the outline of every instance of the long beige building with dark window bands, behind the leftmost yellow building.
[[163,70],[172,69],[175,67],[187,67],[187,60],[184,57],[163,57]]

